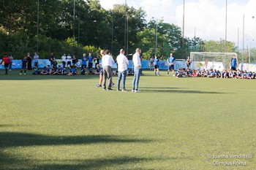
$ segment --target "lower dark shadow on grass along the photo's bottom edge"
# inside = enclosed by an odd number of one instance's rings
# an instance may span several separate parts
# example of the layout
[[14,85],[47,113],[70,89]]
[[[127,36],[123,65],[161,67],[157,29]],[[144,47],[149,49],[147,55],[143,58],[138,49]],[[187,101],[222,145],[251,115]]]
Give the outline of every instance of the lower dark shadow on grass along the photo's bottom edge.
[[149,163],[162,160],[165,160],[165,158],[138,158],[129,156],[96,159],[41,160],[38,158],[19,158],[10,154],[0,153],[0,169],[127,169],[127,166],[129,169],[140,169],[138,163]]

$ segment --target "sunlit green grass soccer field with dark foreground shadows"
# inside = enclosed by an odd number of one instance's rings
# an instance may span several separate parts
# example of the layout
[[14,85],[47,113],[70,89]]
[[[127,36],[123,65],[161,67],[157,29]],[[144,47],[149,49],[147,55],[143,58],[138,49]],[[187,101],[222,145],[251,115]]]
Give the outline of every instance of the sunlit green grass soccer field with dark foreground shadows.
[[122,93],[0,70],[0,169],[256,169],[256,81],[160,73]]

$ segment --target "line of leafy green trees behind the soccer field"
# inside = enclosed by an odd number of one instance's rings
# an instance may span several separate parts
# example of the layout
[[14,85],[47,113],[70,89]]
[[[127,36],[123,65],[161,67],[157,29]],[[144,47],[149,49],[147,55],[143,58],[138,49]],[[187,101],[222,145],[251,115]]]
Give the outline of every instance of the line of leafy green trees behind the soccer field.
[[[145,18],[141,8],[116,4],[107,10],[99,0],[1,0],[0,52],[15,58],[38,52],[40,58],[48,58],[50,53],[96,55],[100,49],[110,49],[116,56],[121,48],[129,54],[140,47],[148,59],[156,53],[156,36],[157,55],[163,58],[170,52],[176,58],[186,58],[191,51],[224,52],[222,39],[185,37],[182,56],[181,28],[163,19],[147,23]],[[235,43],[227,42],[226,50],[236,52]]]

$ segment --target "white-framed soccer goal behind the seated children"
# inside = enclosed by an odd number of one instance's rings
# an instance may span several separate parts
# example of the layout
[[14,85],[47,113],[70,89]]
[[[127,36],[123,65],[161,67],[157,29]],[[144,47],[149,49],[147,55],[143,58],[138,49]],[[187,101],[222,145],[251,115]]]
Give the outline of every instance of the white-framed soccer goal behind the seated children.
[[190,59],[192,61],[190,69],[222,69],[230,68],[230,61],[237,53],[203,53],[191,52]]

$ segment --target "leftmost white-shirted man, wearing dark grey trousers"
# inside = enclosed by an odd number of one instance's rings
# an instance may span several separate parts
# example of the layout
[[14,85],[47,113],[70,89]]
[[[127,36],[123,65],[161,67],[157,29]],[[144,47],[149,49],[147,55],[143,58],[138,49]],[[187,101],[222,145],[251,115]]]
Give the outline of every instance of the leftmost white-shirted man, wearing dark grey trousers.
[[108,78],[108,90],[113,90],[112,85],[112,65],[114,63],[113,57],[110,55],[110,50],[105,50],[105,55],[102,56],[103,68],[103,90],[106,89],[106,81]]

